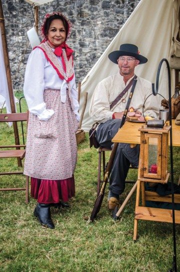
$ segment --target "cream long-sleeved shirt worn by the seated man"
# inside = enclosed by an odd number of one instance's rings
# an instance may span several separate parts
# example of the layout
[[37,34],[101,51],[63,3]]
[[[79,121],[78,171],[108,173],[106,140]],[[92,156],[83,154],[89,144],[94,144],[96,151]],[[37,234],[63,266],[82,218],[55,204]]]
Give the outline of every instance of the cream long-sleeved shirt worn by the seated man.
[[[132,78],[127,81],[126,85],[131,79]],[[89,115],[94,122],[104,123],[107,120],[112,120],[112,114],[114,112],[122,112],[125,110],[131,88],[121,100],[110,109],[110,104],[124,88],[125,83],[123,77],[119,73],[109,76],[97,84],[89,107]],[[130,101],[130,107],[142,112],[143,103],[150,94],[152,94],[151,83],[143,78],[137,77],[137,83]],[[125,103],[123,103],[122,99],[124,99]],[[157,96],[152,95],[145,102],[144,116],[149,115],[157,117],[158,109]]]

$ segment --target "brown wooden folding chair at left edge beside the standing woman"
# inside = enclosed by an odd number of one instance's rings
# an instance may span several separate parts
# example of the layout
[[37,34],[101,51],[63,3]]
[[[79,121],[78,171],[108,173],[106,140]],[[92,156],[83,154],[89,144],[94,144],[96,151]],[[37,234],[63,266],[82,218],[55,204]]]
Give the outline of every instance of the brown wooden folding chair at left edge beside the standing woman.
[[[26,113],[10,113],[10,114],[0,114],[0,122],[18,122],[18,121],[28,121],[28,112]],[[23,148],[23,149],[20,149]],[[3,145],[0,146],[0,159],[7,158],[19,158],[22,160],[25,157],[25,145]],[[17,175],[23,174],[23,172],[0,172],[0,175]],[[28,176],[26,176],[25,187],[17,188],[0,188],[0,191],[19,191],[25,190],[25,202],[28,202]]]

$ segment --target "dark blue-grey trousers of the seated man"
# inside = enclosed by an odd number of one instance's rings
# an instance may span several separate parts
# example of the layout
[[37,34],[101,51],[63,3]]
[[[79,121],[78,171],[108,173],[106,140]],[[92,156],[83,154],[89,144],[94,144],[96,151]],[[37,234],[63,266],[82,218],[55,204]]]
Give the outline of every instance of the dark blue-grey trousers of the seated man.
[[[121,120],[113,119],[100,123],[96,131],[96,139],[101,147],[111,148],[111,139],[117,133]],[[109,190],[121,194],[125,188],[125,179],[129,166],[138,167],[139,145],[131,148],[129,144],[119,143],[114,157],[109,178]]]

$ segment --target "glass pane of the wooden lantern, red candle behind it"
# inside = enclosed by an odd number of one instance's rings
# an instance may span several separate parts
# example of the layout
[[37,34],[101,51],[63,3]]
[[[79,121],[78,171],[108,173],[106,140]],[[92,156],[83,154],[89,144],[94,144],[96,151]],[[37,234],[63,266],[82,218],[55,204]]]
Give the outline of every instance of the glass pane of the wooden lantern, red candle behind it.
[[148,172],[152,174],[157,173],[158,167],[158,149],[157,142],[158,139],[155,137],[149,137],[148,142]]

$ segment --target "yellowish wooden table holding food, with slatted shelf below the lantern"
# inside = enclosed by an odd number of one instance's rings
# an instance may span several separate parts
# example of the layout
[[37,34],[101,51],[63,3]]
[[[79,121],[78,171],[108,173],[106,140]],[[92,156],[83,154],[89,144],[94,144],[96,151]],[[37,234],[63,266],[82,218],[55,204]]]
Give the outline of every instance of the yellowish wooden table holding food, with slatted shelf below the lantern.
[[[128,143],[131,145],[131,147],[136,144],[140,144],[140,131],[138,131],[138,129],[142,125],[143,123],[126,121],[125,124],[118,130],[116,135],[113,137],[112,142]],[[172,120],[172,145],[180,146],[180,126],[175,125],[175,120]],[[137,179],[136,185],[137,191],[134,217],[134,240],[136,240],[137,237],[137,220],[139,219],[172,222],[172,210],[145,207],[145,200],[171,202],[171,195],[160,197],[156,192],[145,191],[144,186],[141,184],[139,179]],[[142,201],[142,206],[140,206],[139,204],[140,189],[144,190],[144,199]],[[125,200],[124,202],[126,203],[127,201]],[[174,194],[174,202],[180,203],[179,194]],[[124,206],[124,204],[122,205]],[[175,222],[180,223],[180,211],[178,210],[175,210]]]

